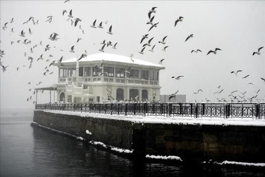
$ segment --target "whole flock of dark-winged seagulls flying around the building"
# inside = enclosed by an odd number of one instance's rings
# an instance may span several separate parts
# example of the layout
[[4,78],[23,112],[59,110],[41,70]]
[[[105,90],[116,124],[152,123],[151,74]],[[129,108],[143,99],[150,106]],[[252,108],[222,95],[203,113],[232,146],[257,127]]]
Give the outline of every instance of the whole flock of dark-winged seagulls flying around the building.
[[[64,1],[63,3],[68,3],[68,2],[70,2],[70,0]],[[150,25],[147,32],[149,32],[150,30],[155,29],[155,28],[157,28],[159,26],[159,23],[160,22],[154,22],[155,21],[154,20],[154,17],[155,17],[154,14],[156,13],[157,9],[158,9],[158,7],[152,7],[151,10],[149,10],[148,13],[147,13],[147,15],[148,15],[148,21],[146,22],[146,24],[147,25]],[[69,14],[67,15],[68,12],[69,12]],[[74,17],[73,15],[74,15],[74,12],[72,11],[72,9],[70,11],[65,10],[65,9],[62,10],[62,16],[63,17],[67,17],[66,21],[67,22],[70,22],[71,23],[71,26],[74,26],[74,27],[76,27],[79,24],[79,29],[81,30],[82,34],[85,34],[84,29],[81,28],[81,24],[80,24],[82,22],[82,20],[80,18],[78,18],[78,17]],[[46,17],[46,20],[45,20],[44,23],[48,23],[48,24],[49,23],[52,23],[52,21],[53,21],[54,18],[57,18],[57,17],[54,17],[52,15],[49,15],[49,16]],[[177,27],[178,25],[181,25],[180,23],[183,20],[184,20],[184,17],[182,17],[182,16],[180,16],[178,19],[176,19],[174,21],[174,24],[173,24],[174,27]],[[9,29],[9,27],[10,27],[9,25],[11,25],[12,23],[15,23],[15,22],[16,21],[14,20],[14,18],[12,18],[10,20],[10,22],[4,23],[4,26],[2,27],[2,29],[4,31],[7,31]],[[24,24],[30,24],[30,23],[32,23],[33,25],[38,25],[39,24],[39,20],[36,20],[35,17],[29,17],[28,20],[26,20],[25,22],[22,22],[23,25]],[[108,33],[110,35],[113,35],[114,34],[114,32],[113,32],[113,26],[110,25],[109,27],[107,27],[108,20],[105,21],[104,23],[103,23],[103,21],[100,21],[98,23],[98,25],[96,23],[97,23],[97,19],[95,19],[92,22],[92,24],[90,25],[90,27],[91,28],[94,28],[94,29],[99,28],[98,30],[107,28],[108,30],[106,31],[106,33]],[[21,38],[19,38],[16,41],[16,43],[20,43],[20,41],[21,41],[21,43],[23,43],[24,45],[29,46],[29,53],[28,52],[25,52],[24,53],[24,57],[27,57],[28,58],[28,61],[29,61],[29,64],[28,64],[28,68],[29,69],[32,67],[32,64],[33,64],[34,61],[38,62],[38,61],[44,60],[45,63],[47,63],[47,65],[44,67],[43,75],[44,76],[51,75],[51,74],[54,73],[54,71],[49,71],[49,67],[52,66],[53,64],[55,64],[55,62],[59,63],[60,66],[63,66],[63,63],[62,63],[63,56],[59,60],[57,60],[57,61],[56,60],[50,61],[49,59],[47,59],[46,57],[43,56],[44,54],[41,54],[36,60],[33,57],[31,57],[30,56],[31,55],[30,53],[34,53],[34,48],[40,48],[43,45],[42,44],[42,40],[41,40],[38,44],[32,45],[32,47],[31,47],[31,42],[32,41],[30,40],[30,36],[31,35],[34,35],[34,31],[32,31],[32,29],[33,29],[33,26],[31,26],[31,28],[29,27],[28,28],[28,33],[26,33],[24,31],[24,29],[22,29],[21,32],[18,33],[18,36],[20,36]],[[14,28],[11,28],[10,32],[15,33],[16,31],[15,31]],[[49,37],[47,37],[47,38],[50,39],[51,41],[57,41],[57,40],[61,39],[61,38],[59,38],[59,36],[60,35],[58,33],[52,32],[49,35]],[[186,39],[185,39],[184,42],[185,43],[188,42],[188,40],[191,40],[191,38],[193,38],[193,37],[194,37],[193,34],[188,35],[186,37]],[[154,52],[155,46],[160,46],[161,47],[161,50],[164,51],[164,52],[166,52],[166,49],[169,48],[169,46],[166,46],[166,39],[168,39],[168,35],[164,36],[162,38],[162,40],[159,40],[158,41],[158,43],[152,43],[152,41],[154,41],[153,39],[154,39],[154,36],[153,37],[150,37],[148,33],[142,35],[141,40],[140,40],[140,45],[143,43],[142,44],[142,49],[140,51],[138,51],[138,53],[143,55],[145,48],[149,48],[149,50],[148,50],[149,52]],[[76,43],[78,43],[80,40],[82,40],[82,38],[81,37],[78,37]],[[147,41],[144,42],[145,40],[147,40]],[[0,40],[0,42],[1,42],[1,40]],[[11,45],[13,45],[14,43],[15,43],[14,41],[11,41]],[[112,41],[107,42],[107,40],[103,39],[103,41],[100,43],[102,46],[101,46],[100,49],[98,49],[98,51],[104,52],[104,49],[105,48],[108,48],[109,46],[111,46],[114,50],[116,50],[117,49],[117,43],[118,43],[117,41],[116,42],[112,42]],[[51,49],[51,47],[56,48],[56,46],[51,46],[50,44],[47,44],[46,43],[44,45],[43,52],[44,53],[49,52],[50,49]],[[257,52],[253,52],[252,53],[252,56],[254,56],[254,55],[260,55],[262,48],[263,47],[258,48],[257,49]],[[64,50],[60,49],[60,51],[63,52]],[[206,56],[209,55],[209,54],[211,54],[211,53],[217,55],[218,51],[222,51],[222,49],[215,48],[214,50],[209,50],[207,52]],[[75,53],[75,45],[73,45],[73,46],[70,47],[69,52]],[[202,51],[200,49],[192,50],[190,53],[193,53],[193,52],[194,53],[198,53],[198,52],[202,53]],[[5,55],[5,51],[0,50],[0,64],[1,64],[1,69],[3,70],[3,72],[7,71],[7,68],[9,66],[9,65],[4,65],[4,62],[2,62],[3,61],[3,58],[4,58],[4,55]],[[81,54],[81,57],[78,60],[81,60],[82,58],[85,58],[86,56],[87,56],[87,51],[85,50],[84,53]],[[52,58],[53,55],[48,54],[48,57],[49,58]],[[163,65],[163,61],[164,60],[165,59],[160,60],[158,62],[158,64]],[[132,56],[131,56],[131,61],[134,62],[134,60],[132,59]],[[103,61],[102,61],[102,64],[103,64]],[[99,69],[102,69],[102,64],[101,65],[96,65],[95,67],[97,67]],[[16,71],[17,72],[20,71],[23,67],[27,67],[27,66],[26,65],[17,66],[16,67]],[[236,77],[240,73],[243,73],[243,70],[231,71],[231,74],[235,74]],[[97,74],[95,74],[93,76],[99,76],[99,75],[102,75],[102,74],[105,75],[105,74],[108,74],[108,73],[102,72],[101,74],[97,73]],[[132,74],[130,74],[130,67],[128,69],[125,69],[124,75],[125,75],[125,79],[127,81],[129,81],[131,79]],[[250,74],[247,74],[247,75],[243,76],[242,79],[246,79],[247,77],[249,77],[249,75]],[[179,81],[183,77],[184,77],[183,75],[180,75],[180,76],[172,76],[171,78]],[[260,79],[262,81],[264,81],[264,83],[265,83],[265,79],[264,78],[260,77]],[[145,80],[144,78],[141,78],[140,79],[140,82],[143,82],[144,80]],[[36,85],[40,85],[41,83],[42,83],[42,81],[39,81],[38,83],[36,83]],[[31,85],[31,82],[28,82],[27,84]],[[252,84],[253,85],[252,82],[247,83],[247,85],[249,85],[249,84]],[[32,90],[33,89],[29,89],[28,91],[29,92],[32,92]],[[221,85],[219,85],[217,87],[217,91],[215,93],[213,93],[213,95],[215,95],[215,94],[218,94],[219,95],[223,91],[224,91],[224,89],[222,89]],[[254,91],[253,92],[254,94],[253,94],[253,96],[251,98],[245,98],[246,92],[241,93],[239,91],[233,91],[233,92],[231,92],[228,95],[228,98],[229,99],[225,99],[225,98],[219,99],[219,98],[217,98],[217,100],[218,100],[218,102],[247,102],[247,101],[252,102],[253,99],[256,99],[256,102],[262,102],[262,101],[264,101],[264,99],[257,99],[257,94],[259,93],[259,91],[260,90]],[[175,93],[171,94],[168,100],[176,97],[176,94],[178,92],[179,91],[176,91]],[[201,89],[199,89],[196,92],[193,91],[193,94],[195,95],[195,94],[199,94],[199,93],[202,93],[202,92],[203,91]],[[43,91],[41,93],[43,93]],[[34,95],[35,94],[35,91],[32,94]],[[29,96],[26,99],[26,101],[29,102],[31,99],[32,99],[32,95]],[[139,96],[138,96],[138,98],[136,97],[135,100],[139,100]],[[207,98],[205,98],[205,101],[206,102],[210,102],[210,100],[208,100]],[[197,101],[194,100],[194,102],[197,102]],[[35,104],[35,102],[33,102],[33,104]]]

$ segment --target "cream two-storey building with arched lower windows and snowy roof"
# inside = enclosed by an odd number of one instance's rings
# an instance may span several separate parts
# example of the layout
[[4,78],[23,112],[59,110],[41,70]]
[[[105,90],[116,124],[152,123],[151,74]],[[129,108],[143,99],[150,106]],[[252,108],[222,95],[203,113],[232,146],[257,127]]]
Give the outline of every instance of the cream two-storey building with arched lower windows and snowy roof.
[[55,86],[60,102],[160,101],[161,65],[105,53],[54,65],[59,69]]

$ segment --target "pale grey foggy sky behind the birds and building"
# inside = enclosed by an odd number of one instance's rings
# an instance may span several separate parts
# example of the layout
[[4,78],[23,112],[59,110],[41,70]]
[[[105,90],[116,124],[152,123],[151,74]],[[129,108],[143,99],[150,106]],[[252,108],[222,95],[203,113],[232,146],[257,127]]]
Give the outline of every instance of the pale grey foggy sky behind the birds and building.
[[[260,89],[258,98],[264,99],[265,84],[260,77],[265,76],[265,49],[261,55],[252,56],[261,46],[265,46],[265,2],[264,1],[1,1],[1,41],[0,49],[5,51],[4,65],[9,65],[7,72],[1,70],[1,108],[32,107],[32,101],[26,99],[32,95],[28,89],[37,87],[36,83],[42,81],[40,86],[49,86],[58,80],[58,68],[50,67],[53,75],[43,76],[44,67],[49,64],[45,60],[36,61],[43,54],[44,59],[64,60],[76,57],[76,53],[70,53],[71,46],[79,42],[79,55],[99,53],[99,44],[103,39],[118,42],[117,50],[105,48],[105,53],[128,56],[134,54],[134,58],[158,63],[165,58],[163,66],[165,70],[160,72],[161,94],[172,94],[179,90],[178,94],[186,94],[186,100],[205,101],[205,98],[216,102],[216,98],[226,98],[235,90],[246,91],[246,98],[255,96],[254,91]],[[160,22],[156,28],[147,32],[150,25],[147,13],[152,7],[158,7],[153,22]],[[71,26],[68,18],[62,16],[63,10],[72,9],[72,15],[82,19],[82,30]],[[54,16],[51,23],[45,22],[47,16]],[[22,25],[30,16],[39,20],[39,25],[32,22]],[[175,20],[184,17],[174,27]],[[14,23],[10,24],[14,17]],[[96,26],[103,21],[103,29],[91,28],[90,25],[97,19]],[[108,20],[108,24],[104,24]],[[4,23],[8,23],[6,30],[2,29]],[[107,34],[113,26],[113,35]],[[28,28],[33,34],[28,34]],[[10,32],[14,28],[14,33]],[[19,36],[24,29],[26,37]],[[52,32],[59,34],[58,41],[48,39]],[[144,55],[138,53],[142,49],[141,36],[149,33],[149,38],[154,36],[151,46],[156,45],[154,52]],[[184,42],[189,34],[193,38]],[[164,36],[168,35],[166,45],[158,44]],[[28,38],[31,44],[16,43],[17,40]],[[15,41],[11,45],[11,40]],[[30,53],[30,48],[42,40],[43,45],[38,46]],[[22,41],[21,41],[22,42]],[[93,45],[93,43],[96,43]],[[44,52],[45,45],[50,45],[50,51]],[[53,48],[56,46],[56,48]],[[209,50],[220,48],[217,55],[209,54]],[[61,52],[63,49],[64,52]],[[202,53],[190,53],[191,50],[200,49]],[[77,51],[77,49],[75,49]],[[28,56],[34,58],[32,68],[28,69]],[[51,54],[54,57],[50,58]],[[27,67],[22,67],[26,65]],[[16,67],[20,67],[17,71]],[[238,76],[231,71],[243,70]],[[250,75],[246,79],[242,77]],[[171,76],[184,75],[180,80]],[[32,82],[28,85],[27,82]],[[247,85],[253,82],[254,85]],[[221,85],[223,93],[213,95],[217,86]],[[193,95],[193,91],[203,90],[203,93]],[[219,90],[220,91],[220,90]],[[47,91],[46,91],[47,92]],[[44,91],[45,93],[45,91]],[[238,94],[236,94],[238,95]],[[53,98],[53,96],[52,96]],[[47,103],[49,95],[38,94],[38,103]]]

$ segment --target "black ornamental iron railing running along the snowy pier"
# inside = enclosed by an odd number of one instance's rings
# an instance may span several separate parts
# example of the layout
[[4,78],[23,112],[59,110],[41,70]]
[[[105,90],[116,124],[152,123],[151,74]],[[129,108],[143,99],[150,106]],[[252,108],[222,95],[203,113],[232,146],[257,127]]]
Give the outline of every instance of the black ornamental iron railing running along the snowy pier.
[[36,110],[62,110],[111,115],[188,116],[265,119],[265,103],[95,103],[36,104]]

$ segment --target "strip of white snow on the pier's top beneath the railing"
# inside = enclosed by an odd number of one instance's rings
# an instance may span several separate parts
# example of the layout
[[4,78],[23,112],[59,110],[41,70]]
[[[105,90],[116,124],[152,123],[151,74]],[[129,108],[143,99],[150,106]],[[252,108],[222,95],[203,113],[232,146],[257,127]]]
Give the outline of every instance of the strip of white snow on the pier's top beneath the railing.
[[139,115],[110,115],[104,113],[89,113],[89,112],[73,112],[60,110],[40,110],[50,113],[60,113],[67,115],[78,115],[81,117],[107,118],[116,120],[125,120],[132,123],[162,123],[162,124],[187,124],[187,125],[242,125],[242,126],[265,126],[265,119],[252,118],[230,118],[224,119],[220,117],[164,117],[164,116],[139,116]]

